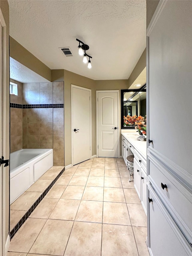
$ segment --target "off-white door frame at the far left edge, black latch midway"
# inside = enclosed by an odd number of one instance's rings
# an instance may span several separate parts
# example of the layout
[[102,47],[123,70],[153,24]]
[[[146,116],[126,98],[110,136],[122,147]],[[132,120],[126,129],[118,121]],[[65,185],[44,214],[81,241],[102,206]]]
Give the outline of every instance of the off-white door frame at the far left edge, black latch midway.
[[[2,155],[6,155],[6,133],[9,131],[6,131],[6,124],[7,124],[7,116],[6,116],[6,88],[7,88],[7,61],[6,61],[6,56],[7,56],[7,39],[6,39],[6,23],[2,14],[2,11],[0,9],[0,23],[2,26],[2,66],[1,66],[1,75],[2,75]],[[1,157],[1,156],[0,156]],[[10,237],[5,237],[6,229],[5,229],[5,220],[6,220],[6,169],[4,168],[4,165],[2,166],[2,176],[0,175],[0,182],[2,185],[2,205],[0,205],[0,211],[2,212],[2,218],[0,219],[1,221],[1,235],[2,235],[2,251],[0,251],[0,254],[6,255],[10,243]]]

